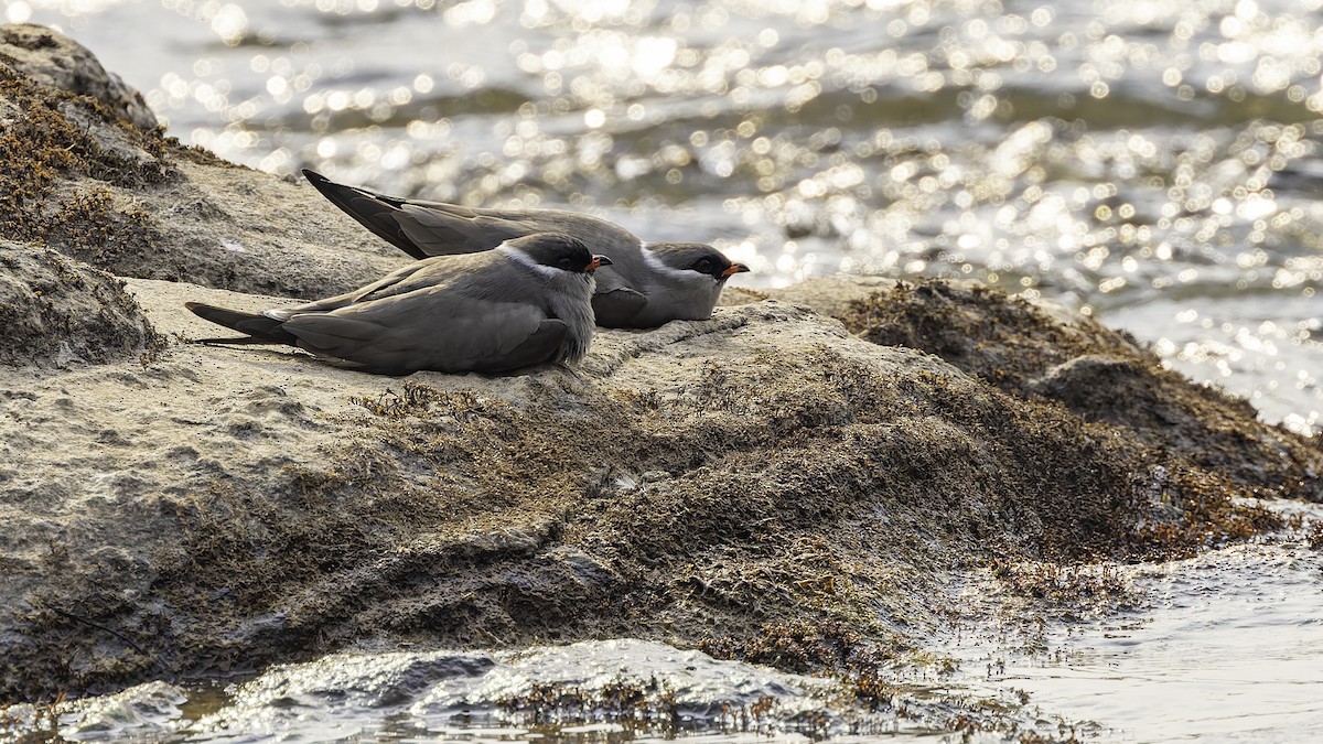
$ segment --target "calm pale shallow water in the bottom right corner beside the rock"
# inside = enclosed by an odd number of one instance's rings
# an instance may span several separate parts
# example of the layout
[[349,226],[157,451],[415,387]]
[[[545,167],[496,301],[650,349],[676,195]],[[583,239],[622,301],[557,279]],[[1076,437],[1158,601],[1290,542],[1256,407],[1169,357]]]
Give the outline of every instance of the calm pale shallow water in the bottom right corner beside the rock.
[[1136,606],[995,633],[979,624],[945,651],[962,662],[958,684],[1023,691],[1081,737],[1312,740],[1323,731],[1323,551],[1304,537],[1114,567]]

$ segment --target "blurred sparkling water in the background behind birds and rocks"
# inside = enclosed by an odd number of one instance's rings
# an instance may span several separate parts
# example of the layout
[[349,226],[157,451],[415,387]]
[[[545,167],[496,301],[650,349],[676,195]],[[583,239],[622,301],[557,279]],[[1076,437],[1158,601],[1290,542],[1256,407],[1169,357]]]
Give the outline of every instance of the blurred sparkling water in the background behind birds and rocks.
[[[224,158],[1039,293],[1301,432],[1323,0],[7,0]],[[741,279],[745,279],[742,275]]]

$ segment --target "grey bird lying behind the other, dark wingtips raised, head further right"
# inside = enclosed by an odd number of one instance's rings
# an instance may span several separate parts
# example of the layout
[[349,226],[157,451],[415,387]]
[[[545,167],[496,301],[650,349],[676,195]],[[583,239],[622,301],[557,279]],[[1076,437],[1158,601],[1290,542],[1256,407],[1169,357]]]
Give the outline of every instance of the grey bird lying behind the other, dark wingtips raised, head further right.
[[483,209],[380,195],[303,169],[323,196],[417,259],[475,253],[538,232],[578,237],[611,259],[597,274],[593,312],[606,328],[655,328],[712,318],[726,279],[747,271],[700,242],[643,242],[606,220],[562,209]]

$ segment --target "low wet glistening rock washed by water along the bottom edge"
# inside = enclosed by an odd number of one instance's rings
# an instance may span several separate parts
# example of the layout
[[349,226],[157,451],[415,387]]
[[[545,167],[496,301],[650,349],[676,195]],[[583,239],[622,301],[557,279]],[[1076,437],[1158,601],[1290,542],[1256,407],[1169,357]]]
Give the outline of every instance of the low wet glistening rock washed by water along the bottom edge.
[[[914,710],[925,703],[910,700]],[[939,720],[939,706],[927,706]],[[335,654],[224,690],[152,682],[62,707],[65,741],[938,740],[830,679],[643,641],[521,651]],[[980,741],[972,737],[971,741]]]

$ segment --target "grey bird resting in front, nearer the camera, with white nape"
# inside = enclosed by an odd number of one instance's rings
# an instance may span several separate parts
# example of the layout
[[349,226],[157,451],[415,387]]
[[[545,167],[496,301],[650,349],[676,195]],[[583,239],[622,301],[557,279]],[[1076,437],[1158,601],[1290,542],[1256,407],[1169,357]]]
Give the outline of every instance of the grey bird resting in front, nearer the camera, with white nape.
[[417,261],[295,307],[185,307],[246,334],[198,343],[288,344],[381,375],[499,373],[579,361],[593,339],[593,273],[610,265],[576,236],[533,233],[490,252]]

